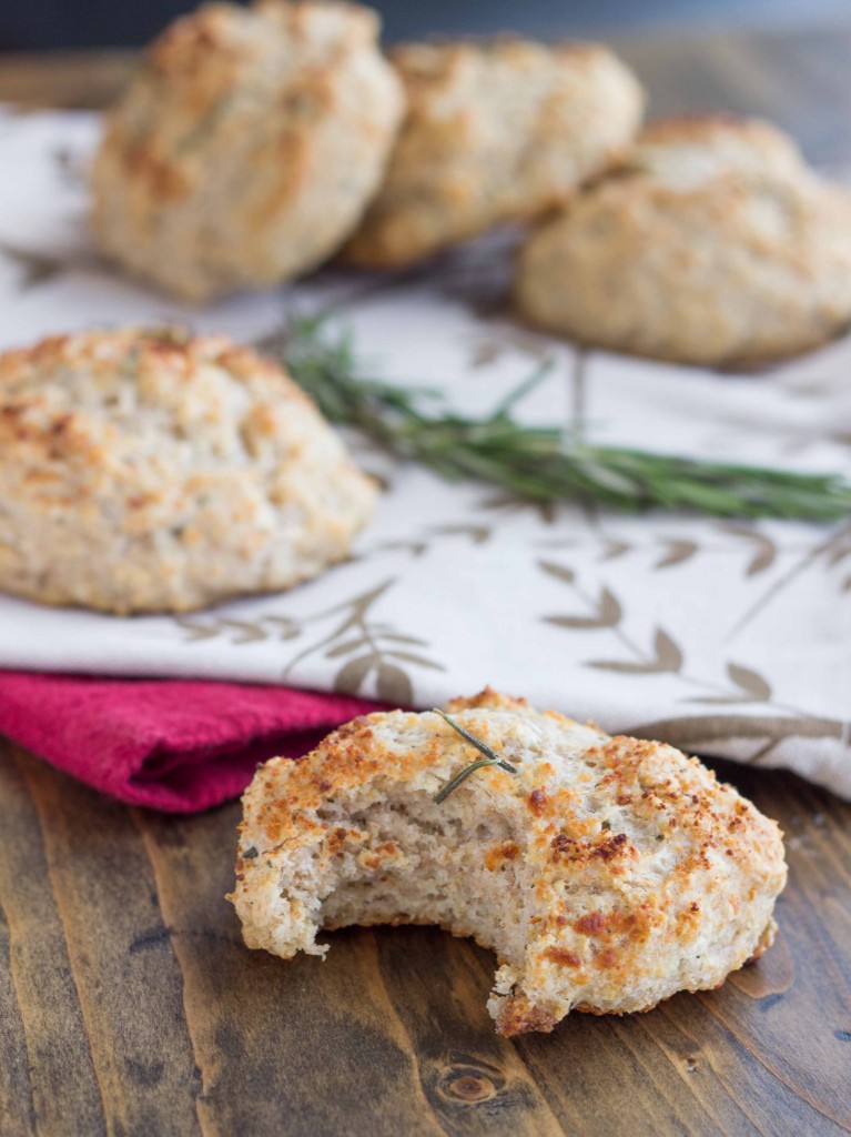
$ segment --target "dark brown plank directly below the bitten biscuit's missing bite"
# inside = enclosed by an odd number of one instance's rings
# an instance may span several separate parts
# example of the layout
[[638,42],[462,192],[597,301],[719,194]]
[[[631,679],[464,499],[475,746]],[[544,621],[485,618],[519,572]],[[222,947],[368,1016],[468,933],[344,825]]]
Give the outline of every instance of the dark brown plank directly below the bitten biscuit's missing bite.
[[134,819],[183,970],[205,1131],[275,1134],[286,1118],[292,1137],[441,1134],[379,981],[374,937],[350,937],[325,963],[249,952],[224,899],[239,807]]

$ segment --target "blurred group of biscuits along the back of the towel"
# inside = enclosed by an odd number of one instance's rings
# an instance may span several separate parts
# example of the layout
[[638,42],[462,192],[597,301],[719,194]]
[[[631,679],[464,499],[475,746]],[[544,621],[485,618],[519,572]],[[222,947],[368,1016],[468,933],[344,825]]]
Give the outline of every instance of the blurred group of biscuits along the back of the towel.
[[214,3],[153,44],[94,168],[103,250],[207,301],[329,258],[401,268],[525,223],[516,307],[614,350],[745,365],[851,322],[851,196],[766,123],[650,125],[606,48],[377,47],[328,0]]

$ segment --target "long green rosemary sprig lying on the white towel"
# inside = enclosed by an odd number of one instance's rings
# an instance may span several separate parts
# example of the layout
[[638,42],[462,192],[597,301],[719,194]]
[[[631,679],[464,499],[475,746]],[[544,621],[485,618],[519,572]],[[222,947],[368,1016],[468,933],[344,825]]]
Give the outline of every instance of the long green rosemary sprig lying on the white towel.
[[451,481],[477,478],[533,501],[578,499],[626,512],[690,509],[802,521],[836,521],[851,513],[851,483],[837,474],[591,446],[556,426],[522,425],[511,415],[514,406],[544,377],[547,366],[489,417],[469,418],[447,409],[434,391],[367,377],[351,337],[332,338],[322,317],[294,321],[283,354],[326,417],[359,428]]

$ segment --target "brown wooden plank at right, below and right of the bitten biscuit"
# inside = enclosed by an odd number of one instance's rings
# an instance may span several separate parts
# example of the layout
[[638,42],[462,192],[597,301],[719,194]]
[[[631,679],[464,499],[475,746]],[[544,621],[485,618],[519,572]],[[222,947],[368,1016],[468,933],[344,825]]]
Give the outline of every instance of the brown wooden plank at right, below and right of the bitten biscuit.
[[548,1094],[595,1119],[592,1134],[851,1132],[851,806],[791,774],[716,765],[791,836],[775,947],[719,991],[575,1015],[518,1048]]

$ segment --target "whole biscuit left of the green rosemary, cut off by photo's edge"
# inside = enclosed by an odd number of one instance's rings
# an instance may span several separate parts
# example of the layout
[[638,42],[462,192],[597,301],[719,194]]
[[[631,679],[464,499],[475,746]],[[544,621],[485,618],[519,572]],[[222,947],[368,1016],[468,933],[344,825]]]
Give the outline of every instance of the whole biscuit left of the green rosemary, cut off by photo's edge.
[[120,614],[287,588],[375,487],[274,363],[127,329],[0,356],[0,589]]

